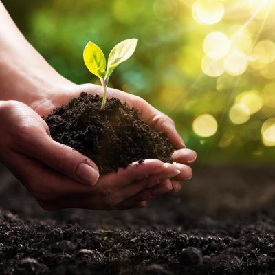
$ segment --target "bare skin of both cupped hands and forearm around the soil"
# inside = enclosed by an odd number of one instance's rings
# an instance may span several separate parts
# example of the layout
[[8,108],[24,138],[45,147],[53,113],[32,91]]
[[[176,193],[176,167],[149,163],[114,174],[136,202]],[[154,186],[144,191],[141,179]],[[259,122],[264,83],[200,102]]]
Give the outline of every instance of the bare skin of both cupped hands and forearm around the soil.
[[55,142],[41,118],[80,92],[102,94],[98,85],[76,85],[58,74],[24,38],[0,1],[0,161],[47,210],[142,208],[147,200],[177,192],[179,181],[190,179],[195,151],[184,148],[173,120],[142,98],[108,89],[138,109],[157,131],[166,131],[179,150],[174,164],[157,159],[129,165],[118,173],[99,175],[96,164]]

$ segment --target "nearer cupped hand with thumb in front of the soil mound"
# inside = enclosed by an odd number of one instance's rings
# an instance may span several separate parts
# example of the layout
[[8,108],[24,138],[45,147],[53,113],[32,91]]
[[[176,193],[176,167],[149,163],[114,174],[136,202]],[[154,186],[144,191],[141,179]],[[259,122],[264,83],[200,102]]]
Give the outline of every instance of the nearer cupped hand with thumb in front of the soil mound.
[[0,102],[0,121],[1,162],[47,210],[141,208],[148,198],[144,190],[150,197],[171,190],[170,178],[179,175],[175,165],[147,159],[98,179],[96,164],[52,140],[47,124],[27,105]]

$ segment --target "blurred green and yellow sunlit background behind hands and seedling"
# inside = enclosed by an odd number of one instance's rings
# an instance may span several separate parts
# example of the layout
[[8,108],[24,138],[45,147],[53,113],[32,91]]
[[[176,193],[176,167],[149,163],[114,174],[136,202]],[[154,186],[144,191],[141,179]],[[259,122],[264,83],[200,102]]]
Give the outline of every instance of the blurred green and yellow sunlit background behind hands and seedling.
[[275,160],[273,0],[4,0],[45,59],[76,83],[95,83],[88,41],[105,54],[123,39],[137,51],[111,87],[170,115],[198,161]]

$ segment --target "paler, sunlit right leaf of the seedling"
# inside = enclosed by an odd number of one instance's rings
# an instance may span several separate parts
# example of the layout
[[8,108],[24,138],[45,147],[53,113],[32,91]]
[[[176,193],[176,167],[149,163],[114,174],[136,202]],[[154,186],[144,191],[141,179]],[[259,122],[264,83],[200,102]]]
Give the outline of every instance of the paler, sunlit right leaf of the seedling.
[[126,39],[113,47],[108,58],[108,69],[105,80],[108,80],[115,67],[131,57],[135,52],[135,47],[137,47],[137,41],[138,39]]

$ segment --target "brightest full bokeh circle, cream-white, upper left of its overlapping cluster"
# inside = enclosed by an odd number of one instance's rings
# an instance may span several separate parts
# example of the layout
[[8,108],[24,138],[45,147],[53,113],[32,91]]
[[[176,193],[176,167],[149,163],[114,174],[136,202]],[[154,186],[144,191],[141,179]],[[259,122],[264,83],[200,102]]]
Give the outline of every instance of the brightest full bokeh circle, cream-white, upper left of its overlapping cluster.
[[211,32],[203,41],[203,51],[212,59],[224,58],[230,51],[230,40],[222,32]]

